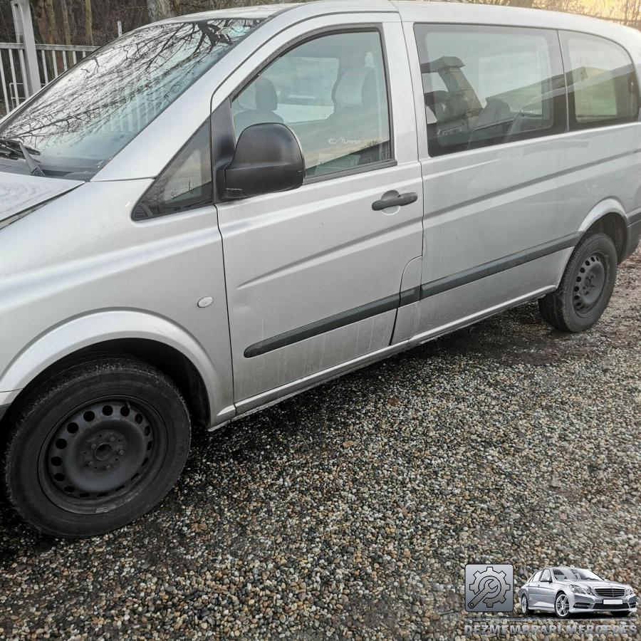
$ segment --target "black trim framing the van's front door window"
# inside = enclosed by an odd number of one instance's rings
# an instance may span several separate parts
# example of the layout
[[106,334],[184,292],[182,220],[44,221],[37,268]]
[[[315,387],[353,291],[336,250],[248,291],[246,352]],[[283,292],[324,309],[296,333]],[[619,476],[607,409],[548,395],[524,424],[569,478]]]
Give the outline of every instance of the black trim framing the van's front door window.
[[[217,140],[219,142],[224,142],[222,151],[218,152],[212,158],[212,167],[214,168],[214,202],[227,202],[220,197],[219,189],[217,189],[216,184],[216,173],[217,170],[221,169],[227,163],[231,162],[231,157],[229,156],[229,136],[233,140],[233,147],[235,148],[235,136],[234,136],[234,125],[233,119],[231,118],[231,102],[234,100],[240,93],[242,93],[251,83],[258,78],[261,73],[273,63],[273,61],[281,58],[289,51],[301,46],[307,42],[318,40],[318,38],[323,38],[324,36],[336,36],[341,33],[378,33],[380,38],[380,47],[382,53],[382,63],[383,71],[385,73],[385,89],[387,91],[387,120],[390,127],[390,154],[391,157],[388,160],[381,160],[379,162],[372,162],[369,165],[362,165],[360,167],[350,167],[347,170],[336,170],[333,172],[327,172],[326,174],[319,174],[316,176],[306,176],[303,179],[304,187],[306,184],[313,184],[316,182],[325,182],[325,180],[342,178],[345,176],[352,176],[355,174],[362,174],[365,172],[371,172],[375,170],[385,169],[387,167],[395,167],[398,163],[396,160],[396,145],[395,145],[395,136],[394,136],[394,113],[392,110],[392,92],[390,87],[390,65],[387,60],[387,43],[385,41],[385,30],[382,23],[356,23],[350,25],[341,25],[331,28],[319,27],[308,33],[304,33],[293,40],[288,41],[285,45],[279,47],[276,51],[273,51],[270,56],[265,58],[261,66],[254,71],[251,75],[247,76],[238,87],[221,103],[221,105],[214,110],[214,116],[212,118],[212,140]],[[227,124],[229,123],[229,124]],[[224,126],[229,127],[231,125],[231,130],[221,132],[218,130],[218,127]],[[214,149],[217,149],[216,145],[212,145],[212,154]],[[231,149],[231,155],[233,156],[234,149]]]

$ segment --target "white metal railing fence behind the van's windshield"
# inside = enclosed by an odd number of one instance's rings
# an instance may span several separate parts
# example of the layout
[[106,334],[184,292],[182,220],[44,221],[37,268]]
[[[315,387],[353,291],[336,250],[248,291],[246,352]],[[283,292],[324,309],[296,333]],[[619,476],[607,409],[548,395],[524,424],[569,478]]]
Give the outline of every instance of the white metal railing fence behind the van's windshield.
[[[42,86],[78,61],[82,60],[96,47],[73,45],[36,44],[38,74]],[[0,92],[1,115],[13,111],[28,98],[24,44],[15,42],[0,43]]]

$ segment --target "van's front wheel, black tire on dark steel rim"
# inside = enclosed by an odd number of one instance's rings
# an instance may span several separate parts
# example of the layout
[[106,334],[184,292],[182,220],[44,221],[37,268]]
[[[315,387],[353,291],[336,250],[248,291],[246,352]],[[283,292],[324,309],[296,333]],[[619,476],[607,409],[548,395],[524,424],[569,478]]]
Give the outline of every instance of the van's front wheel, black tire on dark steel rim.
[[176,386],[127,356],[73,364],[10,412],[7,498],[51,536],[131,523],[172,489],[189,452],[189,413]]

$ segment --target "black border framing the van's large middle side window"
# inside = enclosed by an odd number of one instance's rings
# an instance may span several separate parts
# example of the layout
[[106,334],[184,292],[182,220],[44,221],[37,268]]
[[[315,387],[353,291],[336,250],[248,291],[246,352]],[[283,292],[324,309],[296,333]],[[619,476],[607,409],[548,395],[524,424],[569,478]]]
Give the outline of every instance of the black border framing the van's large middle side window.
[[[426,133],[427,133],[427,157],[429,159],[438,159],[441,157],[447,157],[451,155],[458,155],[458,154],[464,154],[467,152],[480,152],[484,150],[491,150],[495,149],[497,147],[503,147],[504,145],[514,145],[518,143],[523,143],[523,142],[534,142],[538,140],[546,140],[547,138],[555,137],[558,135],[563,135],[568,133],[568,83],[566,79],[566,72],[565,72],[565,67],[563,66],[563,47],[561,46],[561,36],[559,35],[559,29],[558,28],[551,28],[551,27],[540,27],[540,26],[530,26],[530,25],[520,25],[520,24],[495,24],[495,23],[480,23],[480,22],[429,22],[429,21],[414,21],[412,22],[412,31],[414,33],[414,39],[415,39],[415,46],[416,46],[416,51],[417,51],[417,59],[419,61],[420,65],[420,48],[419,48],[419,37],[417,33],[417,27],[429,27],[429,28],[436,28],[439,26],[451,26],[451,27],[476,27],[476,28],[501,28],[501,29],[520,29],[521,31],[543,31],[552,36],[552,34],[556,34],[556,38],[550,38],[551,40],[554,40],[556,42],[556,51],[558,53],[558,62],[561,63],[561,80],[563,81],[563,87],[559,87],[558,90],[561,91],[563,90],[563,93],[565,94],[563,98],[563,105],[564,105],[564,110],[565,110],[565,118],[561,118],[558,123],[554,123],[556,125],[556,131],[553,131],[551,133],[548,133],[546,135],[536,135],[536,132],[532,132],[532,135],[523,135],[522,137],[518,137],[516,140],[509,140],[506,142],[498,142],[495,145],[484,145],[482,147],[474,147],[473,149],[462,149],[459,151],[452,151],[452,152],[444,152],[441,154],[434,155],[430,152],[429,150],[429,127],[431,125],[427,124],[426,128]],[[553,60],[551,59],[551,62]],[[419,69],[419,77],[421,78],[421,84],[419,85],[419,91],[421,92],[421,97],[423,93],[423,85],[422,85],[422,73],[420,73]],[[558,75],[552,76],[552,79],[557,78]],[[558,99],[557,99],[558,100]],[[559,100],[560,102],[560,100]],[[553,103],[553,113],[558,109],[559,105]]]

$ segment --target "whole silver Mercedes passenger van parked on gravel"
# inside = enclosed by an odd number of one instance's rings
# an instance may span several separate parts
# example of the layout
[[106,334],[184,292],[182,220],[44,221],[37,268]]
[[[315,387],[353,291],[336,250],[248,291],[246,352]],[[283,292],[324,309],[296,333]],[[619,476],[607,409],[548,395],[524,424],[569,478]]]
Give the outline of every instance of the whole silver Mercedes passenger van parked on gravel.
[[214,429],[525,301],[597,322],[641,232],[641,35],[415,1],[127,33],[0,123],[4,481],[91,536]]

